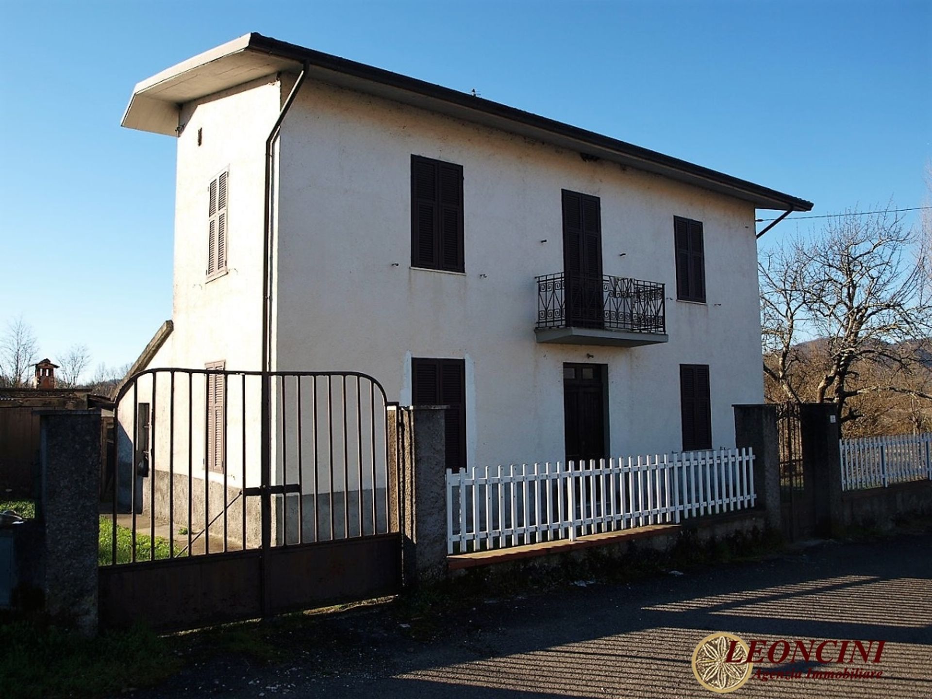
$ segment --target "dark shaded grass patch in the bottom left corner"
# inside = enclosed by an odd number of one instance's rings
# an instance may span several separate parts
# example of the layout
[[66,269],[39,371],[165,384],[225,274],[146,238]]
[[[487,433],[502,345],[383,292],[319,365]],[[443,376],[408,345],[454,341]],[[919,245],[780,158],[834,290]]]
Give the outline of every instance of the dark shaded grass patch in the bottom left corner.
[[118,694],[182,665],[166,639],[142,627],[86,638],[34,621],[0,624],[0,686],[17,699]]

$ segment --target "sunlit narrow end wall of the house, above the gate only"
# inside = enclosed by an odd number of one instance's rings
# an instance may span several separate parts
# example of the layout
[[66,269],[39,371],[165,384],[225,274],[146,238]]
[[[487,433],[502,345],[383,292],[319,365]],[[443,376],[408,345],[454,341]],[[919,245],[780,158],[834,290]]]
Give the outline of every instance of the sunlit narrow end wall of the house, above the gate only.
[[[280,87],[272,75],[182,109],[171,334],[176,366],[202,369],[226,360],[227,368],[260,368],[265,144],[279,114]],[[226,169],[227,274],[207,281],[208,186]]]

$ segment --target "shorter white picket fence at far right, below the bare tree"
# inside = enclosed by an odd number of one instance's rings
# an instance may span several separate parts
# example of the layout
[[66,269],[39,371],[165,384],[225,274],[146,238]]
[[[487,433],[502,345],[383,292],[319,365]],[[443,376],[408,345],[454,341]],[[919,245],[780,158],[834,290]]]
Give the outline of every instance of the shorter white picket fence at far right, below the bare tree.
[[842,489],[887,487],[932,478],[932,433],[843,439]]

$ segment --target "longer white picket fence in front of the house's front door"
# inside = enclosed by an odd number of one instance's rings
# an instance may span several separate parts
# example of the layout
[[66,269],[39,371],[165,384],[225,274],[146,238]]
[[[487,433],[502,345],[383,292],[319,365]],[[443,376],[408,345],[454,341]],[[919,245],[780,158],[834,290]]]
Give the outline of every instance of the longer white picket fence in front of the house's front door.
[[749,448],[446,471],[446,550],[499,549],[752,507]]

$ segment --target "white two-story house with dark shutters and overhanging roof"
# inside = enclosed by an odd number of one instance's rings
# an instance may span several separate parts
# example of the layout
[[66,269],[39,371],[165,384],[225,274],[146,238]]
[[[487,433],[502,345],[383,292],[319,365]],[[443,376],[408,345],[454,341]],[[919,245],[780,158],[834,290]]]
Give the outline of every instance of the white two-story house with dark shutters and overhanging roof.
[[122,123],[178,148],[150,367],[363,372],[458,407],[451,467],[733,446],[763,400],[756,210],[808,201],[260,34]]

